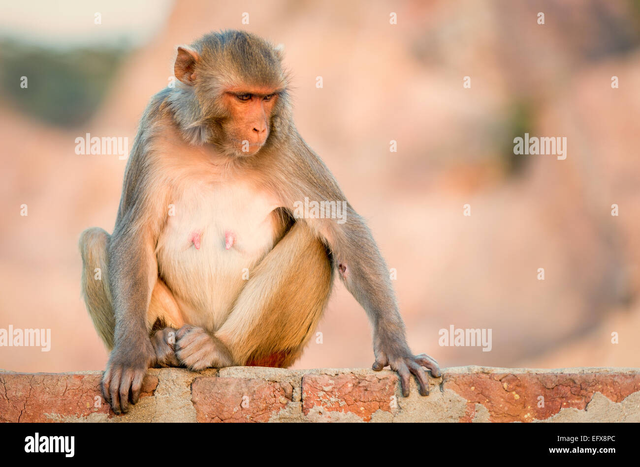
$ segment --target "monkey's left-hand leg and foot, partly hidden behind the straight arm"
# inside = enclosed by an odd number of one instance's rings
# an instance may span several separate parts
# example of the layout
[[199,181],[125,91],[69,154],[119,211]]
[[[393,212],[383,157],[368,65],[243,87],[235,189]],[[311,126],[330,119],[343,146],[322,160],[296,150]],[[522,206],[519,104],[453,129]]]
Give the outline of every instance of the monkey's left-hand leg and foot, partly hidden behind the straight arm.
[[[86,309],[102,342],[111,351],[115,316],[109,290],[109,239],[106,231],[92,227],[80,235],[79,247],[83,261],[82,291]],[[147,314],[147,326],[151,343],[156,349],[157,365],[178,365],[170,332],[175,332],[183,324],[184,320],[173,294],[158,279]]]

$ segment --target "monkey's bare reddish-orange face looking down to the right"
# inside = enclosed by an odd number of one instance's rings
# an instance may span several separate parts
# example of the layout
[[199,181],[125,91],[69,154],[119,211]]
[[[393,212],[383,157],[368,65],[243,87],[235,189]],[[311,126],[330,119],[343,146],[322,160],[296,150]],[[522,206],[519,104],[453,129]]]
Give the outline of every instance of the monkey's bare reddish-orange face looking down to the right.
[[278,90],[231,88],[223,93],[222,100],[227,109],[227,118],[221,124],[225,151],[237,156],[257,153],[269,137]]

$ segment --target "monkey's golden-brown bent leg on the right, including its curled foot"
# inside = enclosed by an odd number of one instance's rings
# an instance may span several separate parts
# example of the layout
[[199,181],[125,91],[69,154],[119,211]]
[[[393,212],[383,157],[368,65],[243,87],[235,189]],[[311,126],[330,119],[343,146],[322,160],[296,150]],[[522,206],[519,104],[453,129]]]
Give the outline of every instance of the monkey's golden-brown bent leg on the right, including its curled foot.
[[214,337],[200,328],[179,330],[180,362],[193,369],[287,367],[301,355],[331,293],[332,266],[323,243],[296,222],[249,274]]

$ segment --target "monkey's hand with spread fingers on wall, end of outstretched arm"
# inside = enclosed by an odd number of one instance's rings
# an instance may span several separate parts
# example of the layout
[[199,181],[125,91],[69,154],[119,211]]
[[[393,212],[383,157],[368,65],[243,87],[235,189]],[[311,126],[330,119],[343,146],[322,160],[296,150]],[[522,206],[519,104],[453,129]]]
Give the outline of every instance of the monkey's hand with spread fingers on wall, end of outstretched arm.
[[402,395],[404,397],[409,395],[411,373],[418,380],[420,395],[429,395],[429,379],[422,367],[427,367],[431,370],[431,375],[434,378],[442,375],[438,362],[426,355],[426,353],[413,355],[411,349],[403,342],[385,343],[376,337],[374,339],[374,354],[376,355],[376,362],[374,362],[372,368],[375,371],[380,371],[389,365],[393,371],[397,371],[398,376],[400,376]]

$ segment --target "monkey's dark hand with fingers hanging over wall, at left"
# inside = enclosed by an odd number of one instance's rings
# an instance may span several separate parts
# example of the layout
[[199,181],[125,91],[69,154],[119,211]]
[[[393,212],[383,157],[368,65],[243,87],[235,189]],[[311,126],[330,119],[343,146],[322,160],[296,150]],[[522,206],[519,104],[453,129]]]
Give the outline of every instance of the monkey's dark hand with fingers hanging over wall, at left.
[[138,402],[142,380],[155,359],[149,339],[141,340],[132,348],[116,344],[102,376],[102,395],[115,413],[127,413],[129,401]]

